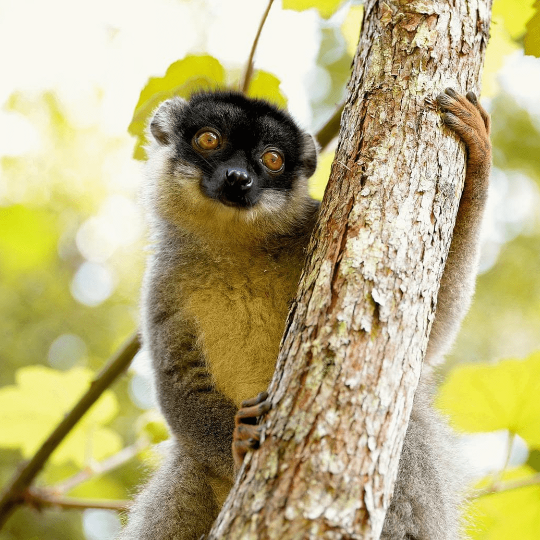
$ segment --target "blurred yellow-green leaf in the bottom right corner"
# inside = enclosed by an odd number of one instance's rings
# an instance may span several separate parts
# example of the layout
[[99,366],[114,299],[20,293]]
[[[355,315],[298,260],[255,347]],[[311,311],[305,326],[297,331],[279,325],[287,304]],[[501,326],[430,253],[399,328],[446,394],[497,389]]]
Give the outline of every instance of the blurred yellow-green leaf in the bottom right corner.
[[[526,478],[534,471],[519,467],[503,475],[503,480]],[[491,479],[482,482],[483,487]],[[540,485],[529,485],[482,495],[467,510],[471,540],[535,540],[540,538]]]

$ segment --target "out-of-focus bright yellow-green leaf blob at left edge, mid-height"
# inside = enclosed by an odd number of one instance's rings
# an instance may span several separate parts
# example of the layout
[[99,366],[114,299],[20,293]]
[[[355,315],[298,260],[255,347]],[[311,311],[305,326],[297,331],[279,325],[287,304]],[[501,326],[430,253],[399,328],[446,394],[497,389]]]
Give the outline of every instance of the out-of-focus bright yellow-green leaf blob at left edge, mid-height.
[[20,274],[56,253],[58,232],[52,215],[20,205],[0,208],[0,268]]

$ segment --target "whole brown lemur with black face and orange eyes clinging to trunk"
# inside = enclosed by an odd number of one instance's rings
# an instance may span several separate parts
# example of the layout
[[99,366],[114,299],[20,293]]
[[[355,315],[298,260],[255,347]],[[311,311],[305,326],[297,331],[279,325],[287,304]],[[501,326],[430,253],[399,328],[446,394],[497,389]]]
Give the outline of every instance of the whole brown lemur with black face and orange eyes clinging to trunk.
[[[489,117],[476,96],[447,89],[437,102],[468,159],[430,365],[453,342],[473,293],[491,161]],[[234,92],[167,100],[149,138],[153,253],[142,333],[171,439],[121,538],[199,540],[258,446],[255,419],[269,408],[263,392],[318,214],[307,190],[316,150],[287,113]],[[383,540],[460,538],[454,439],[430,407],[432,386],[424,374]]]

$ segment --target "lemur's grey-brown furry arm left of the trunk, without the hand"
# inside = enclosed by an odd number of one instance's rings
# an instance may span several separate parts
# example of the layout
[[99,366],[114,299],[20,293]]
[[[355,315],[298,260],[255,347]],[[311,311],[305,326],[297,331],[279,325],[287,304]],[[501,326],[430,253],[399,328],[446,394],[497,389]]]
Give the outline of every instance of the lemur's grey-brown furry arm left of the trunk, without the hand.
[[232,479],[237,407],[215,389],[193,322],[167,283],[169,272],[170,268],[155,265],[147,287],[153,296],[144,302],[144,339],[153,359],[160,408],[173,435],[191,455],[214,474]]

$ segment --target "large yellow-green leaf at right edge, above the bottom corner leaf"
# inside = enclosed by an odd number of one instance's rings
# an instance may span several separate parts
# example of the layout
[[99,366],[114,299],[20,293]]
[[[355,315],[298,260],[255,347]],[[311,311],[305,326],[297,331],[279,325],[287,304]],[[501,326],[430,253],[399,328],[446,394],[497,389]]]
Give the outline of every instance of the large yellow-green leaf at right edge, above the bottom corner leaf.
[[437,406],[458,429],[508,429],[530,447],[540,447],[540,353],[495,366],[469,365],[450,373]]

